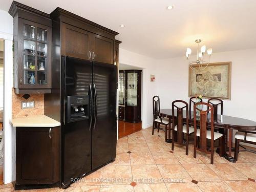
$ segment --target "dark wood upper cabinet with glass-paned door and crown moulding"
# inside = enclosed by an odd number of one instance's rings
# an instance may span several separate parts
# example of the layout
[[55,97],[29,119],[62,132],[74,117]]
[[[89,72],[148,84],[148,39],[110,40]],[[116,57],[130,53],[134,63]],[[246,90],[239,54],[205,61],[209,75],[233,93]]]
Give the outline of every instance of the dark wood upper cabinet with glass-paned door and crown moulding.
[[52,22],[49,14],[13,2],[15,93],[51,93]]

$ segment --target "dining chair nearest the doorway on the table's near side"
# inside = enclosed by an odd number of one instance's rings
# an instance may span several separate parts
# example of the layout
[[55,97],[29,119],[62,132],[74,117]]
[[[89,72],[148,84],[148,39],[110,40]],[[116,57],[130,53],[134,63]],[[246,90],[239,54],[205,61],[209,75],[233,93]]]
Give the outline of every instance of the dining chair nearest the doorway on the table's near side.
[[[181,105],[181,106],[177,106]],[[175,109],[177,110],[177,116],[175,116]],[[186,110],[186,124],[183,124],[183,110]],[[186,146],[186,155],[188,155],[188,138],[190,134],[194,133],[194,127],[188,126],[188,104],[182,100],[175,100],[172,103],[173,114],[173,142],[172,151],[174,151],[174,143]],[[186,137],[185,137],[186,135]],[[184,140],[184,137],[186,140]]]

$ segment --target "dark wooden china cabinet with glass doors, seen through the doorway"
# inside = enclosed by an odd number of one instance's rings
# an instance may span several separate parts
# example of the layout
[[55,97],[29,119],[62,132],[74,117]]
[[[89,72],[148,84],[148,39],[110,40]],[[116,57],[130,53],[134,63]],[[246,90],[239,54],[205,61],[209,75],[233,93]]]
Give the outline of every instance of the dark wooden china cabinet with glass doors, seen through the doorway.
[[119,71],[119,119],[141,122],[141,70]]

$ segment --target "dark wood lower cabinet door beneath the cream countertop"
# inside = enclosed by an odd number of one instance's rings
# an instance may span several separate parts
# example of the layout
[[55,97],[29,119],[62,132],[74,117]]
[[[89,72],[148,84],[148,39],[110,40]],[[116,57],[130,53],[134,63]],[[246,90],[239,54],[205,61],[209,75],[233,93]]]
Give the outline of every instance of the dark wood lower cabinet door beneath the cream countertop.
[[53,130],[16,127],[16,184],[53,183]]

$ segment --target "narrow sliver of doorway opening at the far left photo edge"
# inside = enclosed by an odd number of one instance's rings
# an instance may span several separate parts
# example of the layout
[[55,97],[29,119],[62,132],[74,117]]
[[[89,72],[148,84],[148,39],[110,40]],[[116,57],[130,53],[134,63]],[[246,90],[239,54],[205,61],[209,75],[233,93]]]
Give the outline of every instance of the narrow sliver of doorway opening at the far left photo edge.
[[4,140],[3,140],[3,111],[4,111],[4,40],[0,39],[0,185],[3,182]]

